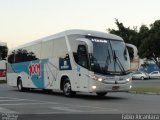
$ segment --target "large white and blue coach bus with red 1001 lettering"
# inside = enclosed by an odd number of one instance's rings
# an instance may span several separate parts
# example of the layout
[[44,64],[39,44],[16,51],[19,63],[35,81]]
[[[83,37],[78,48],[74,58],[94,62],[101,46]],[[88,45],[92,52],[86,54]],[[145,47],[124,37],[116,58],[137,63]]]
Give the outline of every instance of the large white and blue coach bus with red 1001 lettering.
[[66,30],[18,46],[8,53],[7,83],[19,91],[60,90],[124,92],[132,87],[130,57],[119,36],[92,31]]

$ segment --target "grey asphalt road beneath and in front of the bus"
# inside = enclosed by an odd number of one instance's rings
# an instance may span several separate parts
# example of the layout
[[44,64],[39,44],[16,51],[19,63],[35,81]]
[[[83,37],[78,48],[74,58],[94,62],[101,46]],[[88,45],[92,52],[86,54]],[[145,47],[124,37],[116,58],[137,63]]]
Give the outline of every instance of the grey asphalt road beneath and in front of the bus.
[[[137,82],[134,85],[138,85]],[[121,119],[122,114],[160,114],[159,102],[160,95],[109,93],[98,98],[95,94],[78,94],[74,98],[67,98],[61,92],[19,92],[16,88],[0,84],[1,117],[6,117],[8,113],[9,117],[17,115],[18,120],[49,120],[54,117],[56,120],[93,120],[100,117],[106,120],[113,114]]]

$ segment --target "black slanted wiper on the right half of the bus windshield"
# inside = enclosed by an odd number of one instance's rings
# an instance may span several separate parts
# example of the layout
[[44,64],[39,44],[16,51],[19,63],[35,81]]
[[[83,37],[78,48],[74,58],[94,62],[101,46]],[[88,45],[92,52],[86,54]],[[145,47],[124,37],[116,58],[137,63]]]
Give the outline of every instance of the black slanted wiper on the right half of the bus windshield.
[[[121,61],[120,61],[119,58],[117,57],[115,50],[113,51],[113,60],[114,60],[114,67],[115,67],[115,64],[117,63],[117,65],[119,66],[121,72],[122,72],[123,74],[126,74],[125,69],[124,69]],[[116,72],[116,67],[115,67],[115,72]]]

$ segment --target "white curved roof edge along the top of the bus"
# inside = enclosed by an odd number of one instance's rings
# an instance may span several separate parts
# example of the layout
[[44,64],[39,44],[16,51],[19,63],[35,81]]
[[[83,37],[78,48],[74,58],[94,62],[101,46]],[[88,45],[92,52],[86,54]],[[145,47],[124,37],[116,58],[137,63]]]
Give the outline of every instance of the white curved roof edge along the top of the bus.
[[[99,32],[99,31],[93,31],[93,30],[80,30],[80,29],[73,29],[73,30],[66,30],[54,35],[50,35],[48,37],[44,37],[23,45],[20,45],[14,49],[19,49],[19,48],[23,48],[23,47],[27,47],[30,45],[34,45],[34,44],[38,44],[39,42],[42,41],[48,41],[48,40],[52,40],[55,38],[59,38],[59,37],[64,37],[65,35],[74,35],[74,34],[79,34],[79,35],[88,35],[88,36],[94,36],[94,37],[101,37],[101,38],[107,38],[107,39],[113,39],[113,40],[120,40],[122,41],[123,39],[117,35],[113,35],[113,34],[108,34],[105,32]],[[13,49],[12,49],[13,50]]]

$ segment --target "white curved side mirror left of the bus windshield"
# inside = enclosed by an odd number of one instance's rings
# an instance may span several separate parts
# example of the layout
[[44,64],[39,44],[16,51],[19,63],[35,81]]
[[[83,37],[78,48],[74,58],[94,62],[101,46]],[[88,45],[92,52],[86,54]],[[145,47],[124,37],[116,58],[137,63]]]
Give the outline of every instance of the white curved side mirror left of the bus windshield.
[[86,39],[86,38],[78,38],[76,39],[78,41],[81,41],[81,42],[84,42],[86,45],[87,45],[87,49],[88,49],[88,53],[93,53],[93,43],[89,40],[89,39]]

